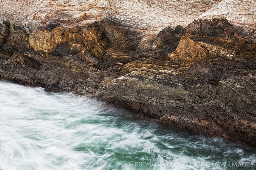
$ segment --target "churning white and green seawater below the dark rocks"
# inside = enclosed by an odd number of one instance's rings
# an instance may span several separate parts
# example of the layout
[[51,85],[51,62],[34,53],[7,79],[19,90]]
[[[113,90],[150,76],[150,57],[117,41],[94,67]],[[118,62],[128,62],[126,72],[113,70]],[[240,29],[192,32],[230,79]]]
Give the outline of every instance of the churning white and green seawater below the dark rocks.
[[256,169],[256,150],[0,81],[1,170]]

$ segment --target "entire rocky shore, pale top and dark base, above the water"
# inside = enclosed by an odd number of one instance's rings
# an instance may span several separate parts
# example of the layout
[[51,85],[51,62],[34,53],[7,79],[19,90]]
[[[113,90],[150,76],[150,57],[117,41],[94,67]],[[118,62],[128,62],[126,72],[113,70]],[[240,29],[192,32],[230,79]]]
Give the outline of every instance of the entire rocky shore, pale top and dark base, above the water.
[[1,3],[1,79],[256,146],[254,2]]

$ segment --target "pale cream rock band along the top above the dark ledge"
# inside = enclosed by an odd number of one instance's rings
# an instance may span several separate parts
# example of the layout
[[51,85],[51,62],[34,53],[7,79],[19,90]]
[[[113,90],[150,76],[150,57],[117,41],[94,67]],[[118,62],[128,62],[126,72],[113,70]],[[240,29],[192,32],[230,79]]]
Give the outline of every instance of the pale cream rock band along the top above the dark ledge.
[[157,33],[167,26],[186,27],[196,19],[213,17],[226,17],[249,31],[256,26],[256,4],[247,0],[0,0],[0,3],[2,19],[22,23],[28,34],[45,24],[88,24],[102,17],[148,33]]

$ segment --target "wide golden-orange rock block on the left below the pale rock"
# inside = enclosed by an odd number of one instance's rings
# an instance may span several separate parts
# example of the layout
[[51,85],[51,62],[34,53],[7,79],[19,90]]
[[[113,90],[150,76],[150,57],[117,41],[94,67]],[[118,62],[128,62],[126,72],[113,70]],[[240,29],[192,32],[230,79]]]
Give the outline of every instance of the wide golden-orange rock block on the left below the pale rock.
[[52,32],[42,30],[32,33],[29,43],[35,51],[46,56],[66,56],[74,51],[81,53],[83,50],[101,59],[107,48],[99,26],[68,29],[57,27]]

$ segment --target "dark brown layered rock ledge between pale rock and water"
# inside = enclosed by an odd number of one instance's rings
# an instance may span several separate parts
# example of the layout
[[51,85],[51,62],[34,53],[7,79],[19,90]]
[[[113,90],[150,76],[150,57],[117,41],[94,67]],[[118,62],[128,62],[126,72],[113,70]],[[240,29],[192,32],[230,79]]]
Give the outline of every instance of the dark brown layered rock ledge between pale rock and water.
[[111,22],[27,35],[0,23],[0,78],[89,95],[161,124],[256,147],[255,30],[225,18],[154,37]]

